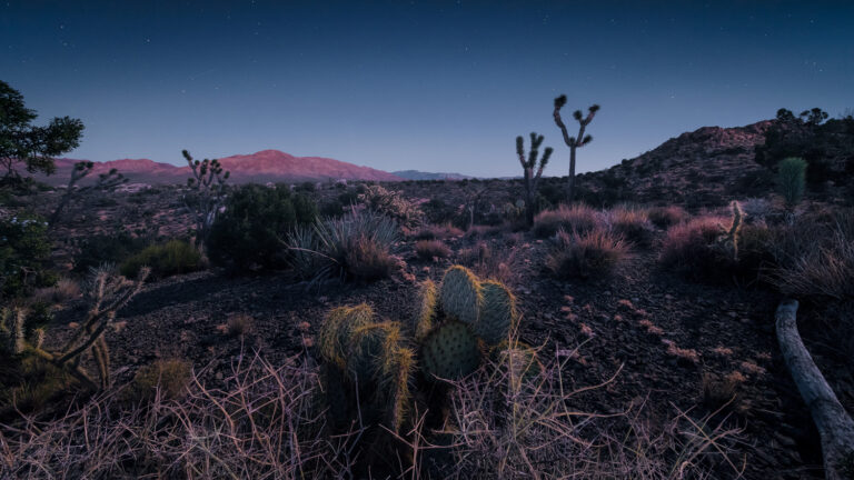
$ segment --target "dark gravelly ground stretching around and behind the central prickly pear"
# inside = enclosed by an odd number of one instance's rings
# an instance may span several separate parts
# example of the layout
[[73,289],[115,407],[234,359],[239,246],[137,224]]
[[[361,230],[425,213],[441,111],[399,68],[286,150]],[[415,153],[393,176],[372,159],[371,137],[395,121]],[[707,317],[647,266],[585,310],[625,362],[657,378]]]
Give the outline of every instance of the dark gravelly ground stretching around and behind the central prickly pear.
[[[661,232],[659,232],[661,234]],[[778,298],[762,288],[734,288],[686,282],[656,266],[655,248],[636,250],[612,278],[579,282],[544,273],[547,243],[527,234],[447,240],[454,254],[439,261],[418,260],[414,241],[400,244],[406,273],[371,284],[328,283],[308,288],[286,273],[227,277],[206,271],[150,283],[121,313],[121,329],[108,334],[117,377],[128,379],[139,366],[158,358],[182,357],[221,378],[241,351],[258,349],[274,362],[299,352],[316,356],[314,336],[326,312],[337,306],[370,303],[388,319],[413,313],[416,281],[438,280],[453,262],[467,262],[466,249],[485,242],[493,254],[509,258],[524,318],[520,337],[542,346],[544,358],[582,344],[566,366],[576,386],[613,376],[605,389],[577,398],[578,410],[615,413],[644,404],[652,421],[691,411],[699,418],[719,404],[704,400],[704,374],[744,378],[736,399],[716,417],[744,429],[735,459],[746,464],[745,478],[814,478],[820,476],[817,433],[806,407],[785,370],[774,337]],[[413,281],[415,277],[416,281]],[[818,310],[806,306],[805,318]],[[57,316],[59,341],[85,313],[85,306]],[[220,326],[234,313],[255,319],[245,339],[226,336]],[[643,322],[648,320],[662,329]],[[806,326],[811,323],[807,321]],[[653,330],[651,332],[651,330]],[[820,366],[828,372],[846,407],[854,409],[851,378],[834,377],[837,368],[822,353],[821,339],[803,327]],[[696,352],[679,359],[663,340]],[[723,473],[722,473],[723,474]]]

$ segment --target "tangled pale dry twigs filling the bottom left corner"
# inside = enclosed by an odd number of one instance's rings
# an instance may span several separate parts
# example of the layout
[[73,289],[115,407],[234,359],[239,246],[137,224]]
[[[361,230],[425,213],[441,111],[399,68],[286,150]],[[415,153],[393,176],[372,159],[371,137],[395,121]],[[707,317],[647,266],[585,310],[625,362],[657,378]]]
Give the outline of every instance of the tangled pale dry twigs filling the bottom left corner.
[[[116,391],[64,417],[0,426],[9,478],[351,478],[347,436],[325,436],[317,376],[241,357],[218,388],[125,406]],[[153,378],[153,377],[152,377]]]

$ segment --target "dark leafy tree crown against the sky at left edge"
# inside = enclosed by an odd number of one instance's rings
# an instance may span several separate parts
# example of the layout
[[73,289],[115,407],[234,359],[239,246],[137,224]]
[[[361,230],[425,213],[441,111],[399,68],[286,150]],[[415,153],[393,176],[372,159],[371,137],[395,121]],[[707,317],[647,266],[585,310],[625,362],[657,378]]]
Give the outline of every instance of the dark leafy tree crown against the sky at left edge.
[[47,127],[36,127],[31,124],[36,117],[36,111],[24,106],[23,96],[0,81],[0,166],[6,169],[0,183],[20,182],[18,164],[30,173],[51,174],[57,170],[52,157],[80,144],[80,120],[54,118]]

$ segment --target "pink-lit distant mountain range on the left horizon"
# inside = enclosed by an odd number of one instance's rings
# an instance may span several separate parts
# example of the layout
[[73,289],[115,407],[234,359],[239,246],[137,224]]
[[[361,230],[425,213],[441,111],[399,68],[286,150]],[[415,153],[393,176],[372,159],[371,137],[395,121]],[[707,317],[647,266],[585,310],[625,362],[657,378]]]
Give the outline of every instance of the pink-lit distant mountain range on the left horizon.
[[[37,176],[43,182],[61,186],[68,182],[71,169],[80,160],[57,159],[57,172],[50,177]],[[400,177],[369,167],[360,167],[322,157],[294,157],[278,150],[262,150],[252,154],[238,154],[219,159],[225,170],[231,172],[232,183],[301,182],[326,180],[400,181]],[[133,183],[167,184],[186,183],[189,167],[148,159],[123,159],[95,162],[95,169],[82,183],[91,183],[98,174],[118,169]]]

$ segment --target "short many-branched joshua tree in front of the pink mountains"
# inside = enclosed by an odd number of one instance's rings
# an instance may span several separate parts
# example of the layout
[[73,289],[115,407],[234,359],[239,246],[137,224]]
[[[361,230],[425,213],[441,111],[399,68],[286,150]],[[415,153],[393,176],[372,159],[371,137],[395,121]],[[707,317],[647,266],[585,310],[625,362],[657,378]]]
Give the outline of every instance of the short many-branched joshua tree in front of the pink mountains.
[[224,172],[219,160],[193,160],[190,152],[181,153],[192,170],[193,178],[187,179],[187,187],[192,191],[192,198],[183,198],[183,204],[192,212],[196,223],[196,247],[201,249],[210,234],[214,220],[222,208],[226,193],[226,180],[231,172]]

